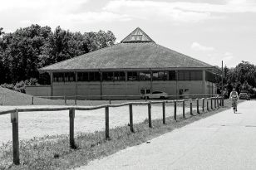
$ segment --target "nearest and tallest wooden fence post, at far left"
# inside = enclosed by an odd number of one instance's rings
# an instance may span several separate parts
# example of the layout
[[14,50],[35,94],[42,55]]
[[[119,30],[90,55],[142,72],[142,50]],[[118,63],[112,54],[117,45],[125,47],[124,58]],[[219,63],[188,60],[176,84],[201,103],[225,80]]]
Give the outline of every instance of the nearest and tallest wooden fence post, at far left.
[[13,163],[15,165],[20,164],[19,158],[19,141],[18,141],[18,112],[11,114],[12,123],[12,148],[13,148]]

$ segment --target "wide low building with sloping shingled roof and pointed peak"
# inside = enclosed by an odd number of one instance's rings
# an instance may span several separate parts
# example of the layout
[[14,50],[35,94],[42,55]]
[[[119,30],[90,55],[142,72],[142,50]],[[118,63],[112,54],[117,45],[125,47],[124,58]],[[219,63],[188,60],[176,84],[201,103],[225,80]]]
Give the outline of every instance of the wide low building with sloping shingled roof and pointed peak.
[[27,86],[28,94],[85,99],[109,99],[109,95],[126,99],[139,96],[142,89],[174,96],[214,95],[219,73],[214,66],[156,44],[139,27],[121,43],[39,71],[50,74],[51,85]]

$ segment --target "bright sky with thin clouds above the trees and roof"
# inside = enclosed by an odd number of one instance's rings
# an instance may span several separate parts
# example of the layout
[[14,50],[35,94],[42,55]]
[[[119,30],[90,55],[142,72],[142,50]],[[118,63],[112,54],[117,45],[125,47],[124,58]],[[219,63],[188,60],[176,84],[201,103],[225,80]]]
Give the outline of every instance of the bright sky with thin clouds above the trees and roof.
[[0,27],[32,24],[71,32],[140,27],[156,43],[213,66],[256,65],[256,0],[0,0]]

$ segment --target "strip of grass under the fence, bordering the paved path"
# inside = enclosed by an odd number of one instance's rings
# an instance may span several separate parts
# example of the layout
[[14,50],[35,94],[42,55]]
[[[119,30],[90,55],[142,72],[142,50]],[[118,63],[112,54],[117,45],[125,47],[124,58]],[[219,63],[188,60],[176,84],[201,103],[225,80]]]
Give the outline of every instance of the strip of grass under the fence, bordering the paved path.
[[[135,133],[130,132],[129,126],[118,127],[110,130],[110,140],[105,139],[105,132],[95,132],[93,134],[80,133],[75,138],[76,149],[69,148],[68,135],[45,136],[43,138],[33,138],[20,142],[21,165],[12,164],[12,143],[5,143],[0,148],[0,169],[70,169],[81,165],[86,165],[93,159],[102,158],[125,149],[144,143],[151,138],[168,133],[174,129],[191,124],[199,119],[204,119],[210,115],[217,114],[224,109],[230,108],[230,102],[225,101],[226,107],[203,114],[190,116],[187,119],[178,117],[177,121],[173,117],[166,118],[167,124],[162,124],[162,119],[152,121],[153,128],[148,127],[148,120],[140,124],[135,124]],[[229,107],[228,107],[229,106]]]

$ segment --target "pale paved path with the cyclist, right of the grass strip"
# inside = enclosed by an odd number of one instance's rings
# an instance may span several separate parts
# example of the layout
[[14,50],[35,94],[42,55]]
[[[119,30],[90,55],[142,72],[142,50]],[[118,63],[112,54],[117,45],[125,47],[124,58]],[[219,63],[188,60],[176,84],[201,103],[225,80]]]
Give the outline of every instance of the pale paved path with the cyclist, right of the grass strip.
[[256,169],[256,101],[78,169]]

